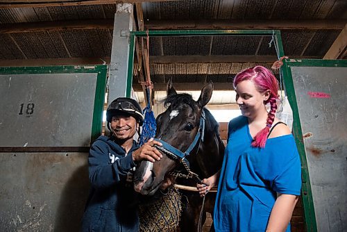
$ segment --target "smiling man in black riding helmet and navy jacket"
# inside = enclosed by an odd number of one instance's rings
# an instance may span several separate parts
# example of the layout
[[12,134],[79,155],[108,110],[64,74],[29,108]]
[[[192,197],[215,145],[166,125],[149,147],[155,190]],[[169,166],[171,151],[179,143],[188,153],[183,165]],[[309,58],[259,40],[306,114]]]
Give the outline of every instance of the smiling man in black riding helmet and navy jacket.
[[142,160],[155,162],[162,155],[153,139],[139,147],[133,140],[144,116],[134,99],[119,97],[106,111],[110,136],[100,136],[88,157],[90,196],[82,219],[82,231],[139,231],[137,193],[130,174]]

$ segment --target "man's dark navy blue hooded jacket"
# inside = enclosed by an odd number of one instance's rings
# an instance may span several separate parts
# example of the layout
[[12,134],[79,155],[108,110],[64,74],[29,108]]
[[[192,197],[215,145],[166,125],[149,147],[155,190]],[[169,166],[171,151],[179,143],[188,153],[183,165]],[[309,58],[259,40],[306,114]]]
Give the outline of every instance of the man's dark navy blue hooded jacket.
[[90,149],[89,179],[92,185],[82,219],[82,231],[139,231],[138,194],[126,181],[135,167],[128,154],[114,138],[100,136]]

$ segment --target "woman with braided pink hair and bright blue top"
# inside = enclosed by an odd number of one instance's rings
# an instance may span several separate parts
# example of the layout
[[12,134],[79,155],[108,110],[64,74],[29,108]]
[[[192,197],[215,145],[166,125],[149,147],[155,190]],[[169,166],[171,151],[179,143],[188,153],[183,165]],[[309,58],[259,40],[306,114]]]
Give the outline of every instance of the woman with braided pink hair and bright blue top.
[[290,231],[301,162],[291,131],[275,117],[278,81],[255,66],[235,76],[234,88],[242,116],[229,122],[221,170],[197,188],[203,196],[218,183],[215,231]]

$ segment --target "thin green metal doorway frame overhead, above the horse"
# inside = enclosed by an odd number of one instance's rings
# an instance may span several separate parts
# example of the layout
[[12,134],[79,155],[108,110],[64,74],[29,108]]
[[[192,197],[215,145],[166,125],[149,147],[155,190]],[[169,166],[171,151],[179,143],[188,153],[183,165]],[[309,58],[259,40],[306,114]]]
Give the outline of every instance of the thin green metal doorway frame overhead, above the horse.
[[284,55],[282,39],[279,30],[179,30],[179,31],[131,31],[130,48],[128,60],[128,77],[126,81],[126,97],[130,97],[131,87],[133,86],[133,65],[135,52],[135,38],[149,36],[273,36],[278,48],[278,56]]

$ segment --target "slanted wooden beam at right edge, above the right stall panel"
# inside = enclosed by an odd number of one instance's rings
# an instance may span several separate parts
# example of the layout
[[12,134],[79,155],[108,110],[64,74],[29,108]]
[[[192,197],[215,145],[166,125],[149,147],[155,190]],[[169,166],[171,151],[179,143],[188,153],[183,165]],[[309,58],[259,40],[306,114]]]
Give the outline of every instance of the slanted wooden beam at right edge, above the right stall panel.
[[335,60],[335,59],[344,58],[346,54],[346,47],[347,47],[347,24],[344,26],[344,29],[342,29],[341,33],[339,33],[339,36],[337,36],[337,39],[332,44],[332,46],[327,51],[327,53],[325,53],[325,56],[323,57],[323,59]]

